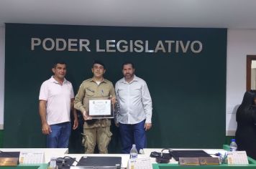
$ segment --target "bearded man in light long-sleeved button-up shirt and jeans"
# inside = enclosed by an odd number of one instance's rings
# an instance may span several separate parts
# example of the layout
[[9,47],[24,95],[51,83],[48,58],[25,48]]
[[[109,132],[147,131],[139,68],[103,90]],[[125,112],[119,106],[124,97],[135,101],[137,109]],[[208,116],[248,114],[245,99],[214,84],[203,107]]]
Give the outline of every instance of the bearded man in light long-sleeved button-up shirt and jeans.
[[124,77],[116,82],[116,99],[119,109],[116,113],[116,126],[122,141],[122,153],[129,153],[135,144],[138,152],[146,148],[146,131],[152,123],[152,100],[147,83],[134,74],[134,64],[122,64]]

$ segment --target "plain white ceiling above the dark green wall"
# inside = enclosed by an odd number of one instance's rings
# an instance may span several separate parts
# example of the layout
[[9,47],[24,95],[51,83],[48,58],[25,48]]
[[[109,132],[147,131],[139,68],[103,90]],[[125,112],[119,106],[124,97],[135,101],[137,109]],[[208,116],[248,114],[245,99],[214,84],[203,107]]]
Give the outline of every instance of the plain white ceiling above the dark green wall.
[[256,29],[256,0],[0,0],[4,23]]

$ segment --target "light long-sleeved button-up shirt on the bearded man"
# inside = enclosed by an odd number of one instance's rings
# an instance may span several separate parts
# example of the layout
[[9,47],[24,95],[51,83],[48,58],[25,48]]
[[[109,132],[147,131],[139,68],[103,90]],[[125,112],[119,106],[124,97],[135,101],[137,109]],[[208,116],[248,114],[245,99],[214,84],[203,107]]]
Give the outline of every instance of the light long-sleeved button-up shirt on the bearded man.
[[133,125],[146,120],[151,123],[152,100],[145,80],[135,75],[131,82],[122,78],[116,82],[115,90],[119,103],[117,122]]

